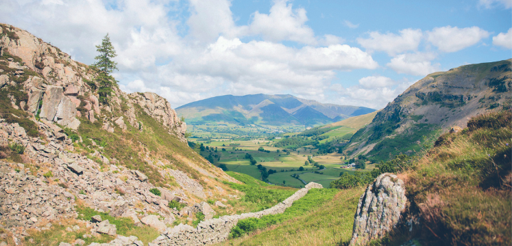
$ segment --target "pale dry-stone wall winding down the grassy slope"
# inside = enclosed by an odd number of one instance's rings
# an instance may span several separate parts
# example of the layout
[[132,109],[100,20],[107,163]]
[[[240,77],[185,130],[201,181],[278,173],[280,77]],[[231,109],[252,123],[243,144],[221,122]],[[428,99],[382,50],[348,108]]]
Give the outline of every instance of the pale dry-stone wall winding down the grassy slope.
[[321,189],[323,187],[321,184],[310,182],[306,185],[306,188],[298,190],[276,206],[260,212],[244,213],[241,215],[226,215],[219,219],[208,219],[199,223],[197,228],[183,224],[175,226],[174,228],[168,228],[149,245],[206,245],[225,241],[230,234],[230,230],[236,226],[239,219],[261,218],[263,215],[276,215],[283,213],[284,210],[293,204],[293,202],[304,197],[304,195],[308,193],[309,189],[312,188]]

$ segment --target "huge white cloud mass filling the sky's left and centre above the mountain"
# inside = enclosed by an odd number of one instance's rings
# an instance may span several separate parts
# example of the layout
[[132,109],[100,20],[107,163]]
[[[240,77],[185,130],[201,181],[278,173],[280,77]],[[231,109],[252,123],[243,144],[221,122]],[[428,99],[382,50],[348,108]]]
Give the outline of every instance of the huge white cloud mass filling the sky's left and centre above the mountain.
[[[0,20],[86,64],[94,61],[95,44],[110,33],[121,89],[156,92],[173,107],[221,94],[291,93],[319,100],[326,98],[336,71],[378,68],[371,55],[343,44],[343,38],[315,37],[305,25],[305,10],[287,1],[276,1],[269,14],[255,14],[246,26],[234,24],[228,0],[191,0],[188,20],[169,14],[181,1],[111,3],[115,5],[101,0],[4,1]],[[183,34],[185,26],[189,29]],[[263,40],[250,41],[251,35]],[[278,43],[282,40],[305,46]]]

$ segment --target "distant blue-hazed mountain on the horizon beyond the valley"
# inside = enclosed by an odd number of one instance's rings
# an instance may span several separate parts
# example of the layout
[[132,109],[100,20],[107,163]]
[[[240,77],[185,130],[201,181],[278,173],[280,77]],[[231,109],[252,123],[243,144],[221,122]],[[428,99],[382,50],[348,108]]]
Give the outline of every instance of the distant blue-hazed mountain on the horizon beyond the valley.
[[324,104],[291,95],[215,96],[176,109],[188,124],[229,122],[270,126],[330,124],[375,109]]

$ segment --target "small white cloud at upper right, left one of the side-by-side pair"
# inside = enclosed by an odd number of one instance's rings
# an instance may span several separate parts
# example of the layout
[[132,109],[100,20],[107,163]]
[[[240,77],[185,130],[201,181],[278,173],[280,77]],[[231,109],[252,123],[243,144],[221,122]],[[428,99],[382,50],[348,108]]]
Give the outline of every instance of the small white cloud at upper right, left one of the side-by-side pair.
[[369,38],[357,38],[357,42],[369,51],[385,51],[393,56],[405,51],[415,51],[422,36],[420,29],[402,29],[400,35],[371,31]]

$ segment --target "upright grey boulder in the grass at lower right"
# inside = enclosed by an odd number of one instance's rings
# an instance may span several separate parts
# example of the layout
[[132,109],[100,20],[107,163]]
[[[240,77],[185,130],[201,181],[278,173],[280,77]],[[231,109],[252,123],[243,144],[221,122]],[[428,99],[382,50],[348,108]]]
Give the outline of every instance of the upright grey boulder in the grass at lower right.
[[393,174],[380,174],[359,198],[350,245],[366,245],[395,226],[405,209],[404,182]]

